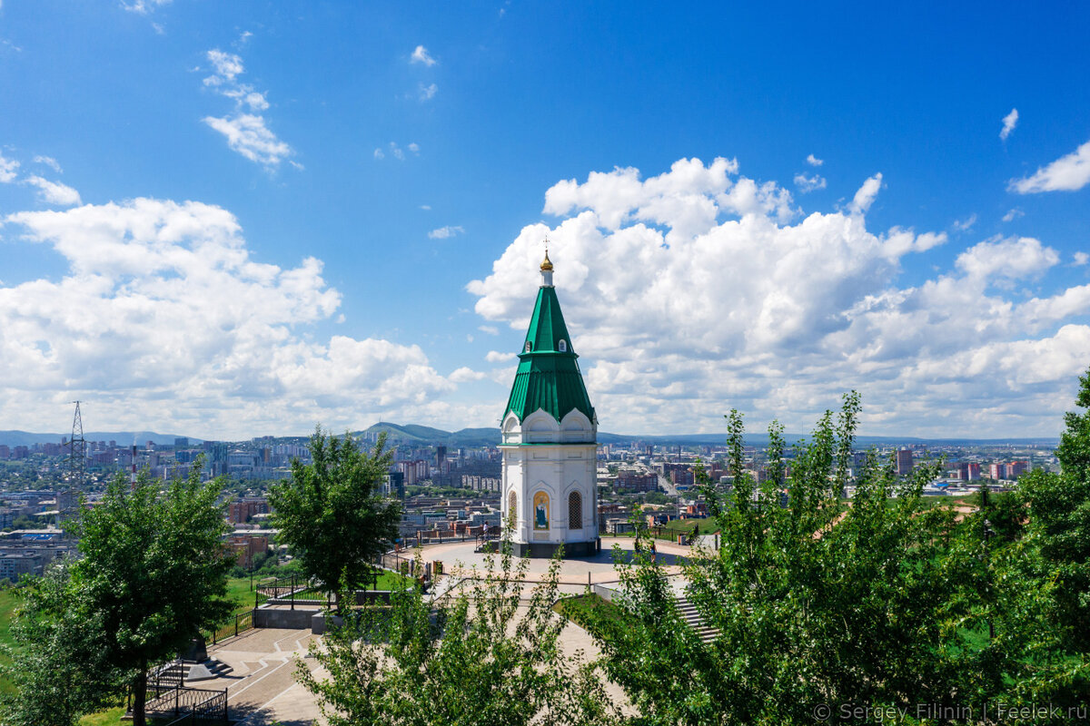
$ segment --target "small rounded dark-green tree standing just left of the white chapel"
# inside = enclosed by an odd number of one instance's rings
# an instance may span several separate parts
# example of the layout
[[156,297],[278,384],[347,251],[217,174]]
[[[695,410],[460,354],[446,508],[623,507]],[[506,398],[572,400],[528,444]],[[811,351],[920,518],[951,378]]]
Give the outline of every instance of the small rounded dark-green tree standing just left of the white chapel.
[[292,547],[303,573],[329,590],[350,588],[374,571],[371,561],[398,534],[401,506],[379,494],[391,455],[380,434],[371,453],[348,434],[311,438],[312,464],[298,459],[291,479],[269,492],[279,542]]

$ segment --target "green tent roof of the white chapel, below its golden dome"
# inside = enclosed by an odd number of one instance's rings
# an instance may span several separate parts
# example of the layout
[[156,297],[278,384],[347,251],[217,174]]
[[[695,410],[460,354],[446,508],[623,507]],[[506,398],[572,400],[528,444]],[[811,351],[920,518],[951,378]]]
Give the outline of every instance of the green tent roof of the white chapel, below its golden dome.
[[[566,349],[561,350],[561,347]],[[577,358],[579,356],[571,348],[571,336],[556,298],[556,288],[542,285],[537,291],[526,341],[519,354],[519,368],[504,418],[514,411],[522,421],[542,408],[559,421],[576,408],[593,421],[594,407],[586,395]]]

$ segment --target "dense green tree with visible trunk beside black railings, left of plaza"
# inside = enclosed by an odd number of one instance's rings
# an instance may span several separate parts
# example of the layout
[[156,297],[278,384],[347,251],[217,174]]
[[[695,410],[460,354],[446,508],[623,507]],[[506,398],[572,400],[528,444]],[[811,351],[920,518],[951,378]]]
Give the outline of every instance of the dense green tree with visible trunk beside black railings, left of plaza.
[[160,491],[146,473],[130,491],[116,477],[98,506],[75,521],[84,557],[72,568],[75,605],[101,624],[110,662],[132,673],[134,726],[144,726],[147,672],[177,656],[233,603],[233,559],[217,504],[221,482],[201,482],[199,467]]

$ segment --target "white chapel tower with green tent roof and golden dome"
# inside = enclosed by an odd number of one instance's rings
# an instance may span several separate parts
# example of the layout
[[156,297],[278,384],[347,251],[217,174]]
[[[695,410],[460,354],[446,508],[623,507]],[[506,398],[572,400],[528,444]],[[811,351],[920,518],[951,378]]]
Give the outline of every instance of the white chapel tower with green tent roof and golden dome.
[[598,421],[553,286],[545,254],[542,285],[519,354],[501,423],[505,526],[518,556],[601,550],[597,512]]

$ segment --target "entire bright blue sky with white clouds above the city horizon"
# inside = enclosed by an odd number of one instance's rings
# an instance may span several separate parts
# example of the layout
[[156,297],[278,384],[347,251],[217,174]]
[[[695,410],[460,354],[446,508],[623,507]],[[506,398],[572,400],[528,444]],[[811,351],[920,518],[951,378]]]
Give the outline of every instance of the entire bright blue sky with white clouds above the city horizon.
[[0,0],[0,428],[496,424],[548,234],[604,430],[1055,435],[1090,9],[948,5]]

